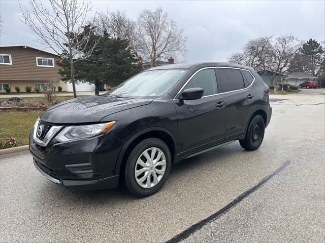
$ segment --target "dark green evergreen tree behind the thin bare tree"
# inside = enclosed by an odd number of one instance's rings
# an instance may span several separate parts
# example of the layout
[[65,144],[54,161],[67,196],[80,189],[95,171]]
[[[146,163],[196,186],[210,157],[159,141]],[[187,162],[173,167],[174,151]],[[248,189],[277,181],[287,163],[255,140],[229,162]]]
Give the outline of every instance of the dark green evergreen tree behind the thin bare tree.
[[[85,32],[89,31],[90,26],[85,26]],[[90,40],[95,41],[99,36],[93,36]],[[90,43],[91,46],[91,43]],[[70,67],[67,62],[59,63],[62,68],[59,73],[62,80],[70,80]],[[95,94],[99,94],[103,84],[116,86],[141,71],[138,59],[129,48],[127,39],[112,39],[104,33],[100,36],[100,41],[96,50],[87,60],[76,62],[75,77],[78,82],[95,85]]]

